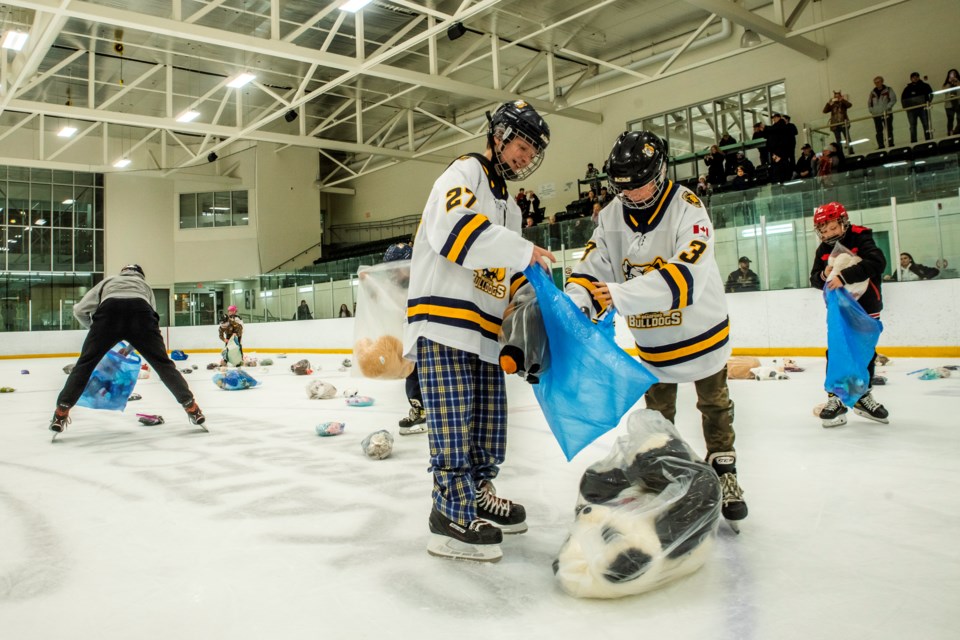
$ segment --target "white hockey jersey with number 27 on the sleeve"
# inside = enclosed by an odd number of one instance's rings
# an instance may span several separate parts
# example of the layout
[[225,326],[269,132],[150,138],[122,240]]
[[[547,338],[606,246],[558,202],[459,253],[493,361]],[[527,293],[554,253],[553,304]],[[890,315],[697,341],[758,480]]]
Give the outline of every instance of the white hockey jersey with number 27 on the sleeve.
[[424,336],[499,361],[503,314],[533,256],[520,224],[520,208],[485,157],[462,156],[437,178],[413,243],[407,358],[416,360]]

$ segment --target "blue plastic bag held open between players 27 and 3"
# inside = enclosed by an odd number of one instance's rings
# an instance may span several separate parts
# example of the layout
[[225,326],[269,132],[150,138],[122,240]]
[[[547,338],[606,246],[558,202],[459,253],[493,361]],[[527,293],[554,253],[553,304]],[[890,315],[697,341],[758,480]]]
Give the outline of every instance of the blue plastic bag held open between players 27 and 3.
[[550,368],[534,385],[567,460],[616,427],[657,378],[617,345],[613,314],[594,324],[538,265],[524,270],[537,292]]

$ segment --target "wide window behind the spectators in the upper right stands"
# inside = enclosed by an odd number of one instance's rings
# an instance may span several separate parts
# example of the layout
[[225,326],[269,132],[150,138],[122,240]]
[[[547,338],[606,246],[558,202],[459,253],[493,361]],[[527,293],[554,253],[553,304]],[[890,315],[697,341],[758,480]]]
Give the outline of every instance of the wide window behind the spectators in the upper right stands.
[[[737,142],[748,142],[753,137],[754,124],[770,124],[771,116],[784,113],[786,108],[786,90],[781,81],[647,116],[627,123],[627,128],[650,131],[663,138],[674,159],[672,177],[680,180],[704,172],[704,152],[712,144],[722,144],[719,141],[724,133]],[[759,158],[752,160],[759,163]]]

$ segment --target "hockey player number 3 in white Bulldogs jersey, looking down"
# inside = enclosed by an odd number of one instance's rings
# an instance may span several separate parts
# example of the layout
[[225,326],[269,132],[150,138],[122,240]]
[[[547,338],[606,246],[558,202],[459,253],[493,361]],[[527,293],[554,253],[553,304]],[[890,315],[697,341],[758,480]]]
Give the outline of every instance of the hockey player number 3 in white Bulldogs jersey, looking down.
[[666,149],[652,133],[622,133],[606,173],[617,197],[600,212],[565,290],[591,316],[616,307],[626,319],[640,359],[660,380],[647,391],[648,408],[673,422],[677,383],[695,384],[723,516],[742,520],[727,388],[730,326],[710,217],[692,191],[667,179]]

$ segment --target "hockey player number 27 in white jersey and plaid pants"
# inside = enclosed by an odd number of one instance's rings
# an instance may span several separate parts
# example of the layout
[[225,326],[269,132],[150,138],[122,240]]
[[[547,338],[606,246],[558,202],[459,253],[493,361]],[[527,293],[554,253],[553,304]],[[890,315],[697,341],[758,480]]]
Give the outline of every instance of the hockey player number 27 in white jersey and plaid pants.
[[[404,352],[416,360],[433,472],[433,555],[496,562],[504,533],[526,531],[524,508],[497,495],[507,402],[497,338],[522,270],[547,259],[520,235],[506,180],[529,177],[550,129],[523,101],[492,116],[487,148],[437,179],[413,244]],[[529,285],[527,285],[529,286]]]

